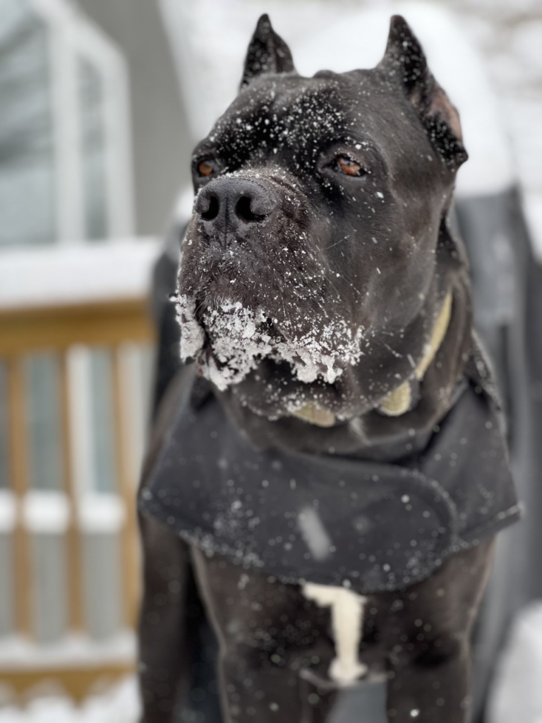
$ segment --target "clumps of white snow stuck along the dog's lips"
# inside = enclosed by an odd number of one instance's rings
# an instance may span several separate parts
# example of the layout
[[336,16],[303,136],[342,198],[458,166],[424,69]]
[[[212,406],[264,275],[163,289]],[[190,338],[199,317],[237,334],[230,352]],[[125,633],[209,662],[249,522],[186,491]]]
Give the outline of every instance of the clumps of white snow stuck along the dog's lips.
[[[181,326],[181,360],[195,359],[202,375],[223,391],[242,382],[262,359],[287,361],[300,382],[318,378],[333,384],[345,367],[357,364],[363,328],[355,332],[343,318],[314,322],[309,332],[298,335],[291,322],[272,335],[268,320],[278,320],[264,309],[247,309],[241,301],[223,301],[217,309],[205,309],[201,324],[196,302],[186,294],[177,298],[177,320]],[[210,350],[205,350],[205,343]]]

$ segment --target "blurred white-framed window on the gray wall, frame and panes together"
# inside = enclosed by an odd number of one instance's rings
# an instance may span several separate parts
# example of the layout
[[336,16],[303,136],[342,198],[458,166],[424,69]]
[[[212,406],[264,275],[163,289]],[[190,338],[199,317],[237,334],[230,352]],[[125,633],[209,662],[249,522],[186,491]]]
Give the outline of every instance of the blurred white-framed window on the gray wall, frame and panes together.
[[121,54],[65,0],[0,17],[0,249],[131,235]]

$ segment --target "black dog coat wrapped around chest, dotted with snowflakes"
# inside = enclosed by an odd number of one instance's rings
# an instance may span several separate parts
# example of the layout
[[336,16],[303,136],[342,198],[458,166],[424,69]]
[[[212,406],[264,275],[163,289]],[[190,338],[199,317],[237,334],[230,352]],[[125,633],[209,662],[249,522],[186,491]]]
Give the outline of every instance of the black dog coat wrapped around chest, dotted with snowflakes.
[[192,375],[139,508],[210,554],[283,581],[402,589],[518,518],[499,416],[475,351],[422,452],[408,451],[412,437],[394,463],[258,452]]

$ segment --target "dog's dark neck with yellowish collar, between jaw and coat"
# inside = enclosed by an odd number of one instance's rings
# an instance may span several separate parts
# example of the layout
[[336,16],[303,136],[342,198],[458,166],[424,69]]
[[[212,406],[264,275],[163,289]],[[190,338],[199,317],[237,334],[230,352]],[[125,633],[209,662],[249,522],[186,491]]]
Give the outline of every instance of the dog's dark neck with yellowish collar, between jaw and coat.
[[[430,431],[454,403],[472,346],[466,268],[456,265],[450,273],[442,268],[439,278],[442,301],[423,354],[412,365],[408,380],[405,382],[403,378],[399,386],[371,410],[352,419],[339,419],[323,406],[306,405],[304,414],[271,420],[252,412],[228,390],[218,393],[228,416],[259,449],[276,447],[296,453],[346,454],[384,460],[404,454],[406,442],[409,448],[418,445],[418,434],[423,436]],[[386,409],[381,408],[383,404]],[[420,444],[423,445],[423,441]]]

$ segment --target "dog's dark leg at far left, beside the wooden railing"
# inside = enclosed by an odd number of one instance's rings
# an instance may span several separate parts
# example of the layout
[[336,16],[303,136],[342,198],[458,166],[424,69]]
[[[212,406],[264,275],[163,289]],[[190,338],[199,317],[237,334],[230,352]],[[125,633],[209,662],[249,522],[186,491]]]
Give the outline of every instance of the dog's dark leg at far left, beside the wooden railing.
[[171,723],[184,683],[188,685],[186,587],[189,550],[152,518],[139,521],[144,557],[139,616],[139,685],[142,723]]

